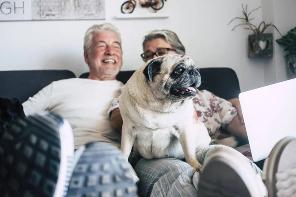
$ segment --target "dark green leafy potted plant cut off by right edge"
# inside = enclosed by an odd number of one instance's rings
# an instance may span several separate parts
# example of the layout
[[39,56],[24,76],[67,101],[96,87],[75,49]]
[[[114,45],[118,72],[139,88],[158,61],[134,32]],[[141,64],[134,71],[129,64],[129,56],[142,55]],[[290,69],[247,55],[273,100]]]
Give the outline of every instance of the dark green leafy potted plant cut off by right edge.
[[[285,47],[286,61],[288,66],[289,78],[296,77],[296,27],[290,30],[281,38],[275,40],[278,44]],[[291,76],[292,75],[292,76]]]

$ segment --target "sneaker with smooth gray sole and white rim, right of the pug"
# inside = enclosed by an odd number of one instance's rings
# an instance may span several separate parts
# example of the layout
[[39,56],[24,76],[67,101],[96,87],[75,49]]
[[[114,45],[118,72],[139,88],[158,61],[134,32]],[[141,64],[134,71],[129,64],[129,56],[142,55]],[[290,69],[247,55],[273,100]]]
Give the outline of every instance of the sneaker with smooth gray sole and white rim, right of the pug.
[[242,154],[232,150],[217,149],[205,161],[198,184],[199,197],[264,197],[265,195],[266,188],[260,174],[254,171]]

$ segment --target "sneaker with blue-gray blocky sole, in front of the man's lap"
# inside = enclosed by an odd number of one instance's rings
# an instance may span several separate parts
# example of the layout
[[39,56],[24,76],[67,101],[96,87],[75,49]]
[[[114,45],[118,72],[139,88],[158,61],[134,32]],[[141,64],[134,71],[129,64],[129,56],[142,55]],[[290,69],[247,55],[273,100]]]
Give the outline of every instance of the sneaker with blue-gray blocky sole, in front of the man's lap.
[[120,150],[106,142],[90,142],[74,154],[67,197],[135,197],[138,188]]

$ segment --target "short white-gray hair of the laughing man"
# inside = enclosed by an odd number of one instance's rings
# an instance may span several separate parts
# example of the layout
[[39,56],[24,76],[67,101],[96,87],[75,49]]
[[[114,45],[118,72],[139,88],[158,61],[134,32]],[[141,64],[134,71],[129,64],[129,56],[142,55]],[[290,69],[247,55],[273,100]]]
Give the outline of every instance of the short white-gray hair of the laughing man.
[[86,32],[84,34],[83,50],[88,53],[88,51],[90,49],[90,45],[92,44],[92,37],[93,37],[94,33],[103,32],[106,30],[116,33],[116,35],[119,39],[120,48],[121,48],[121,37],[120,37],[120,33],[119,33],[118,29],[116,28],[116,26],[114,26],[111,23],[104,23],[102,25],[93,25],[86,30]]

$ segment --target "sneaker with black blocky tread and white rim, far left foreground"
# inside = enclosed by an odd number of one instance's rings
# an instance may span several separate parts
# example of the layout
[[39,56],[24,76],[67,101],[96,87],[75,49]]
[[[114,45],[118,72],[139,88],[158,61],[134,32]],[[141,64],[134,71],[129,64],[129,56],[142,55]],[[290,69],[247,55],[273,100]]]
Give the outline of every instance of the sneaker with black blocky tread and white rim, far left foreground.
[[67,121],[53,114],[18,119],[3,134],[0,144],[0,194],[66,196],[74,155],[73,133]]

